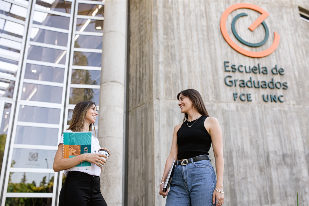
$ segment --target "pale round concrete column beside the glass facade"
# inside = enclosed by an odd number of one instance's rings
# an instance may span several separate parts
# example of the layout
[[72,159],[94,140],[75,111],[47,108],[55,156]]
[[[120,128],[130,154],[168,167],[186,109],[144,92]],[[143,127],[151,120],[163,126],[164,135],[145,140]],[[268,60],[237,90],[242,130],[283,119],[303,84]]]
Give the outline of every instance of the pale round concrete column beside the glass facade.
[[111,152],[101,173],[108,205],[122,205],[127,1],[105,1],[99,102],[100,145]]

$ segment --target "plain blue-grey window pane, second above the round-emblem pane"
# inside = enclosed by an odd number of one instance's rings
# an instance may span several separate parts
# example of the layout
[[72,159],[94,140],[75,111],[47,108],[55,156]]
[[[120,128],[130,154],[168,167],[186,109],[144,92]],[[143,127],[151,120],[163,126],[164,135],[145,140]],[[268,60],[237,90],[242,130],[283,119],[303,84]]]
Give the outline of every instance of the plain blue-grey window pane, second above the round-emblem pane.
[[21,105],[18,121],[59,124],[60,109]]

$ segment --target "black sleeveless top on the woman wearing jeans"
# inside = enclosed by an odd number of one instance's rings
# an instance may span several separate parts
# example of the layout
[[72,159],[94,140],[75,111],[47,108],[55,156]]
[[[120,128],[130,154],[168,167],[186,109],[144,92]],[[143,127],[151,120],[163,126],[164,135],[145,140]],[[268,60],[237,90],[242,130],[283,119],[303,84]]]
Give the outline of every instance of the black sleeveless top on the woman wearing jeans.
[[190,127],[187,125],[187,120],[182,123],[177,131],[178,160],[209,155],[211,138],[204,126],[206,118],[206,116],[201,116],[199,119],[188,122]]

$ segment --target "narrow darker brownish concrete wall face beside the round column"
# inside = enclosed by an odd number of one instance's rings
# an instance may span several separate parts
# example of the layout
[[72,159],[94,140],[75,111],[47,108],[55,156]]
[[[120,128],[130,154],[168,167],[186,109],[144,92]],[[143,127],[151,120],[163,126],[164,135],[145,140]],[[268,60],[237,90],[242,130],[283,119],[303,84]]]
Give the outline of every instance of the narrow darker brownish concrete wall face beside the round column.
[[128,205],[154,204],[152,1],[129,1]]

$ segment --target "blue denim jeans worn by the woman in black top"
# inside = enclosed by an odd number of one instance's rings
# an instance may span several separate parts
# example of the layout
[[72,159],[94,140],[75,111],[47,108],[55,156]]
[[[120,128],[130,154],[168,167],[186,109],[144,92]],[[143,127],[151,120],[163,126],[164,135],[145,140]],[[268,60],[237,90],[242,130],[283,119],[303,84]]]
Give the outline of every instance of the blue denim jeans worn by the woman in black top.
[[166,206],[215,205],[212,197],[216,184],[214,168],[209,160],[176,165]]

